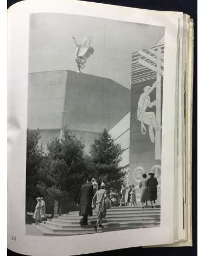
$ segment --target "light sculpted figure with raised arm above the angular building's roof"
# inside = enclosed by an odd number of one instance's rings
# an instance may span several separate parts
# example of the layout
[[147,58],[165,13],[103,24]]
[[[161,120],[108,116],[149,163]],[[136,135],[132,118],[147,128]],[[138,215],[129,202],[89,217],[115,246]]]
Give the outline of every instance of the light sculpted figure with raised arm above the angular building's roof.
[[74,36],[72,36],[72,38],[77,47],[75,51],[75,61],[78,66],[78,72],[81,72],[81,69],[85,68],[85,63],[88,57],[90,57],[94,53],[94,49],[91,46],[92,38],[91,36],[86,36],[81,43],[78,43]]

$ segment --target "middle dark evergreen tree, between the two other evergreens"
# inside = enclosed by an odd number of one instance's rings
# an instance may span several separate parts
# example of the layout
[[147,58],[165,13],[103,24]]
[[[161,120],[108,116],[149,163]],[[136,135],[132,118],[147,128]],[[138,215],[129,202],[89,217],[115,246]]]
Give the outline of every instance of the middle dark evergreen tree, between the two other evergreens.
[[67,128],[61,139],[55,138],[48,143],[47,157],[39,171],[39,190],[46,191],[44,193],[59,204],[67,200],[68,195],[76,201],[90,170],[84,147]]

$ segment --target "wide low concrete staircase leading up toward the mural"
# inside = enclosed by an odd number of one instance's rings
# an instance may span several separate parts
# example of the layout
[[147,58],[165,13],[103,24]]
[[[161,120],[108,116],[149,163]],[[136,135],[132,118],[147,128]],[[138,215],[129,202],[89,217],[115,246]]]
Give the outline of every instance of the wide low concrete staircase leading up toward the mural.
[[[96,213],[88,217],[88,226],[81,228],[79,212],[63,214],[53,219],[43,221],[36,228],[43,235],[81,235],[95,233],[94,225],[97,220]],[[160,208],[139,207],[112,207],[107,210],[107,215],[102,223],[104,229],[98,232],[118,231],[131,228],[156,227],[160,225]]]

